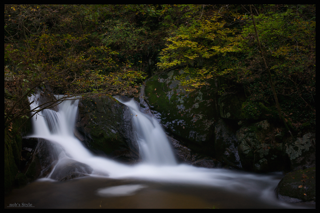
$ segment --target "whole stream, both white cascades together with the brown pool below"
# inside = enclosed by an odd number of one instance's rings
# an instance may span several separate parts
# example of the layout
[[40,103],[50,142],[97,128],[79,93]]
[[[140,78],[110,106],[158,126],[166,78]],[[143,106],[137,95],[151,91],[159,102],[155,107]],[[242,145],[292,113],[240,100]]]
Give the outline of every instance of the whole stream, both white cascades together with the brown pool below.
[[[175,160],[168,137],[154,118],[132,100],[132,125],[143,162],[125,165],[94,156],[73,134],[78,100],[33,117],[34,133],[62,147],[59,161],[72,159],[92,167],[90,176],[55,181],[52,172],[4,199],[5,208],[297,208],[276,199],[283,175],[207,169]],[[36,105],[32,106],[36,107]],[[136,116],[137,115],[137,116]],[[104,175],[105,174],[105,175]]]

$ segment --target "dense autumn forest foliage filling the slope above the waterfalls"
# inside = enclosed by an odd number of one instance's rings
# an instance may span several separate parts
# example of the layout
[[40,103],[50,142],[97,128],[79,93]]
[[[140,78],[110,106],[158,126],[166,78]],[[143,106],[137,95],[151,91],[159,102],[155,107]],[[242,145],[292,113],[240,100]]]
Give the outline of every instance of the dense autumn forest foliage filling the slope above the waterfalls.
[[[315,126],[316,5],[252,7],[286,121]],[[257,45],[248,5],[5,5],[5,127],[28,116],[37,87],[135,95],[172,69],[190,92],[227,79],[221,95],[245,88],[243,110],[268,115],[261,106],[275,103]]]

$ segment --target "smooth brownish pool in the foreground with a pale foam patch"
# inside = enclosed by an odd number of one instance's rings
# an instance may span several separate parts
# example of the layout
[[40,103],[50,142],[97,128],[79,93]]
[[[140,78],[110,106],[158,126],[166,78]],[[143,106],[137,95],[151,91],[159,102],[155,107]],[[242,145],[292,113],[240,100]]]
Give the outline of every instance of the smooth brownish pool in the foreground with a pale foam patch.
[[[10,207],[14,204],[20,206]],[[24,207],[26,204],[31,204],[32,207]],[[255,193],[235,193],[214,186],[99,177],[84,177],[64,182],[40,179],[23,188],[14,189],[4,198],[4,208],[20,209],[213,207],[304,208],[279,202],[276,198],[264,200]]]

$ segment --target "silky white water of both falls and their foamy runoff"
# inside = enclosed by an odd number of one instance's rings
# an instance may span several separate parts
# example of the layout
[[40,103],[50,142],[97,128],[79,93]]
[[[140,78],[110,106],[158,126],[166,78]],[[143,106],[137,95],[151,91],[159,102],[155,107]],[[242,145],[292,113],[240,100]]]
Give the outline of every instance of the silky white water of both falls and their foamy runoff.
[[[139,112],[134,102],[125,103],[132,110],[133,126],[140,143],[144,163],[128,166],[111,159],[92,155],[74,136],[77,100],[61,103],[59,112],[44,110],[33,117],[32,137],[44,138],[60,144],[69,157],[93,168],[92,176],[108,174],[113,179],[142,179],[156,182],[191,184],[218,187],[240,194],[250,194],[268,203],[278,203],[274,189],[279,182],[275,175],[259,175],[225,169],[198,168],[177,164],[172,149],[161,126],[153,118]],[[32,107],[35,107],[33,105]],[[46,118],[44,117],[46,115]],[[137,115],[137,116],[136,116]],[[50,121],[49,121],[50,120]],[[52,121],[53,120],[53,121]],[[50,128],[49,128],[50,126]],[[51,130],[50,130],[51,129]],[[156,144],[154,144],[156,143]],[[50,177],[50,176],[49,176]],[[144,186],[128,186],[128,191]],[[103,188],[99,193],[122,191],[123,188]],[[134,190],[133,190],[134,191]],[[116,192],[120,193],[121,192]],[[111,193],[112,194],[112,193]],[[124,193],[125,194],[125,193]],[[286,205],[279,203],[279,205]]]

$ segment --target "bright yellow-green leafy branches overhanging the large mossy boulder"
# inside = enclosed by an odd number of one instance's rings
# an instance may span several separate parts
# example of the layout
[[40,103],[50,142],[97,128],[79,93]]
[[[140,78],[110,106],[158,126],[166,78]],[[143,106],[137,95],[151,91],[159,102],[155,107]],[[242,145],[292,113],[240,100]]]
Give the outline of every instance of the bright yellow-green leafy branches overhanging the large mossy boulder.
[[226,23],[219,18],[218,12],[211,12],[208,18],[190,19],[187,26],[182,25],[176,29],[171,37],[166,38],[166,48],[160,53],[158,68],[166,70],[186,67],[179,80],[187,90],[207,85],[207,81],[213,76],[236,70],[238,65],[233,65],[230,60],[220,60],[214,64],[215,58],[228,59],[233,54],[246,50],[241,47],[242,37],[225,27]]

